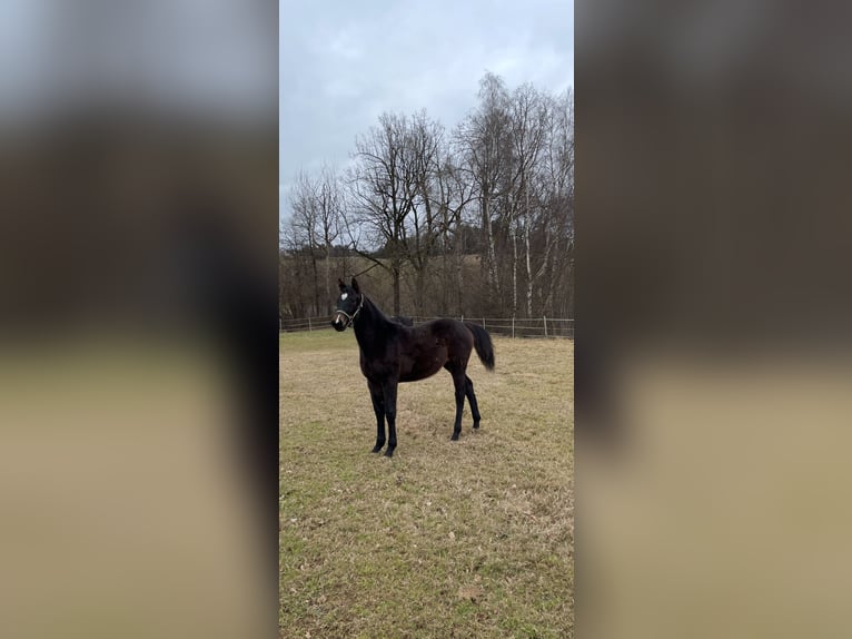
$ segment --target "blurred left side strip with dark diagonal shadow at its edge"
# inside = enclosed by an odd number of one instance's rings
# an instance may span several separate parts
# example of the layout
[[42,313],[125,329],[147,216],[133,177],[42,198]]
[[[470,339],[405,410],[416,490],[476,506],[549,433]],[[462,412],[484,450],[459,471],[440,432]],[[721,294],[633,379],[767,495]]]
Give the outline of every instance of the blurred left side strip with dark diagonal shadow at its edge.
[[3,636],[277,636],[277,26],[0,8]]

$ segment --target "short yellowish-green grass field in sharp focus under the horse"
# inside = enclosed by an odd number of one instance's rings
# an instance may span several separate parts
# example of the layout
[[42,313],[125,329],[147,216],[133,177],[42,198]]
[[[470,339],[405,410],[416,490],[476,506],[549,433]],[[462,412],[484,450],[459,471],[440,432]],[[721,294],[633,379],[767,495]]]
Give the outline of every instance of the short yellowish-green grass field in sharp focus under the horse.
[[281,637],[573,636],[573,342],[494,342],[482,427],[402,384],[387,459],[353,332],[281,336]]

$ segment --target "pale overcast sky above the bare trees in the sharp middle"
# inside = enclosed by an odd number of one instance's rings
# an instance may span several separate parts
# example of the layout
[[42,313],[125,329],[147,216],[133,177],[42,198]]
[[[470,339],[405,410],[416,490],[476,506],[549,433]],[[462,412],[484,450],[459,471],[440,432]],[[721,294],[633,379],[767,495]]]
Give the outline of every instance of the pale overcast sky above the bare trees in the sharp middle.
[[383,111],[450,128],[485,71],[509,89],[574,85],[573,0],[280,0],[281,212],[300,168],[341,167]]

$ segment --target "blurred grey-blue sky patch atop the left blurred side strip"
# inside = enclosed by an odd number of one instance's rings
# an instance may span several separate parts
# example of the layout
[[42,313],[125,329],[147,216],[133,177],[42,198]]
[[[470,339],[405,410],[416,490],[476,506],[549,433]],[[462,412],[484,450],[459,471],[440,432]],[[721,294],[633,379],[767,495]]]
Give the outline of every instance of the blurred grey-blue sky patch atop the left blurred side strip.
[[0,125],[76,106],[274,117],[274,13],[238,0],[3,0]]

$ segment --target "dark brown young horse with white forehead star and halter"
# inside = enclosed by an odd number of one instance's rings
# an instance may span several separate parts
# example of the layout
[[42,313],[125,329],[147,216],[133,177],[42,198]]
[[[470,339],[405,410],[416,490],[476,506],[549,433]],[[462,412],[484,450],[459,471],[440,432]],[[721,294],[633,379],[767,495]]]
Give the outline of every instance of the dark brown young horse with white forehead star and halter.
[[456,420],[452,441],[462,433],[462,411],[465,397],[470,405],[474,429],[479,427],[482,415],[474,394],[474,383],[467,376],[467,362],[475,348],[479,361],[488,371],[494,370],[494,344],[491,335],[478,324],[458,320],[433,320],[416,327],[392,322],[369,297],[364,295],[355,277],[347,286],[337,281],[340,296],[337,299],[331,326],[344,332],[351,325],[360,350],[360,370],[367,379],[367,387],[376,414],[376,445],[378,453],[385,445],[385,420],[387,419],[387,450],[393,456],[396,450],[396,391],[400,382],[417,382],[430,377],[440,368],[453,376],[456,390]]

